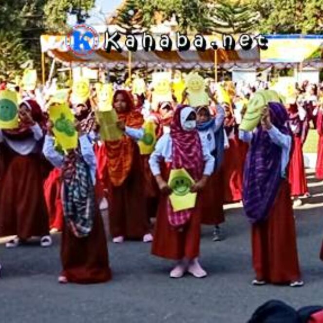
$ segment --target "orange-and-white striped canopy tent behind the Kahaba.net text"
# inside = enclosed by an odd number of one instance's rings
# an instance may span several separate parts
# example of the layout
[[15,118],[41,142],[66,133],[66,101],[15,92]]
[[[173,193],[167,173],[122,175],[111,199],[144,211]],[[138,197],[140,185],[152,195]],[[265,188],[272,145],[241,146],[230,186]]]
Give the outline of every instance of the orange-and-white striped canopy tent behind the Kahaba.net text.
[[[110,31],[111,33],[111,31]],[[136,35],[138,40],[138,49],[136,52],[131,53],[131,65],[132,67],[164,67],[164,68],[193,68],[195,66],[201,66],[203,68],[209,68],[214,66],[224,66],[226,64],[236,66],[248,66],[259,62],[259,49],[256,41],[253,42],[253,47],[245,51],[241,49],[236,41],[235,50],[226,51],[222,46],[222,37],[220,35],[205,36],[207,42],[207,48],[204,52],[197,51],[193,46],[193,36],[189,36],[191,40],[191,46],[188,51],[178,51],[175,47],[176,39],[175,35],[171,35],[172,48],[171,51],[163,51],[159,45],[160,34],[153,34],[153,38],[156,41],[156,48],[154,51],[146,52],[142,48],[142,35]],[[129,51],[125,46],[126,37],[123,35],[118,43],[122,48],[122,52],[119,53],[116,50],[112,50],[107,53],[104,48],[104,34],[99,35],[99,44],[97,49],[89,56],[78,57],[73,51],[69,50],[66,44],[65,35],[42,35],[41,38],[41,51],[47,53],[50,57],[55,58],[64,65],[74,66],[87,66],[90,68],[106,67],[113,68],[118,65],[128,65],[129,63]],[[236,37],[238,40],[238,36]],[[211,48],[211,41],[216,41],[218,49],[214,51]]]

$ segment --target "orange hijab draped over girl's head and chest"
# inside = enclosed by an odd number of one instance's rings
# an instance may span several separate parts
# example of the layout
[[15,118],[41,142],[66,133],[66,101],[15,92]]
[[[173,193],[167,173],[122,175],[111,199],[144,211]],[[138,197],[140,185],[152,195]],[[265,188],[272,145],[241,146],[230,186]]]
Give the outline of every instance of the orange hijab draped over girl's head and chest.
[[[114,93],[113,102],[117,95],[122,94],[127,102],[127,111],[117,113],[120,121],[124,121],[127,127],[139,129],[144,120],[140,112],[135,111],[132,95],[125,90],[117,90]],[[106,141],[108,155],[109,177],[114,186],[121,186],[133,164],[134,148],[137,143],[124,134],[120,140]]]

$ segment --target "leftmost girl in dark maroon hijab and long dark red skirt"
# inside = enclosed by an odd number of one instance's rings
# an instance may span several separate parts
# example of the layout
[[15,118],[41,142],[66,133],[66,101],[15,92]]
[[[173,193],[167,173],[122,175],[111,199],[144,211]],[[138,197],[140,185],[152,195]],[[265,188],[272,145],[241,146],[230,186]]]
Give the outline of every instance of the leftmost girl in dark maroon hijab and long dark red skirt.
[[5,167],[0,188],[0,235],[16,235],[6,243],[13,248],[33,236],[40,246],[49,247],[41,166],[41,146],[45,121],[36,101],[24,100],[19,106],[19,128],[0,130]]

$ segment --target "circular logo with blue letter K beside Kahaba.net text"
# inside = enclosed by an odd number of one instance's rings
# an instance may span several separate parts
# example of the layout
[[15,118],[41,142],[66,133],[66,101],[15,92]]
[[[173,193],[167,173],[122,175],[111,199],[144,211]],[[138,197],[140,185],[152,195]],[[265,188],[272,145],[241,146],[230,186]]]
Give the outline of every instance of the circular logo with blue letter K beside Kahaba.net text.
[[66,36],[66,47],[78,57],[92,55],[99,46],[99,35],[86,24],[75,25]]

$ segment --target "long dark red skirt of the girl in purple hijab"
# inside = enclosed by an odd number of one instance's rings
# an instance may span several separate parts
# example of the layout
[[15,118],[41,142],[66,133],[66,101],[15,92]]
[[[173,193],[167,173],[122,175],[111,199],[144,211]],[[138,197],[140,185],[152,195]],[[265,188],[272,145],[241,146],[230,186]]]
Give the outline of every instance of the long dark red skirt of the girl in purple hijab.
[[283,180],[268,218],[252,226],[252,260],[259,281],[287,284],[301,277],[290,187]]

